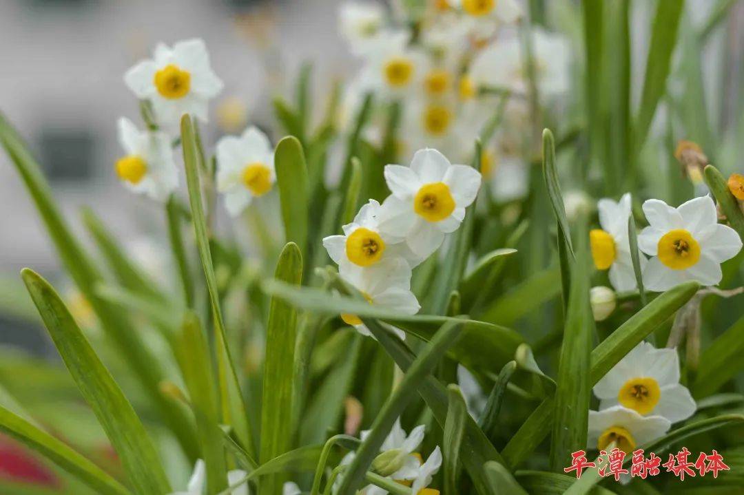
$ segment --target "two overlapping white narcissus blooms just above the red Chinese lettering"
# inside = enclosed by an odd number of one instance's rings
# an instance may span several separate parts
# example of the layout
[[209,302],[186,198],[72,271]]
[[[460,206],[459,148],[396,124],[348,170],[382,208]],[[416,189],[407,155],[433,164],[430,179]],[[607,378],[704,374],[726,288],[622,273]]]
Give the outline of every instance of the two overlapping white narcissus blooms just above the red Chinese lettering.
[[[589,448],[626,454],[689,418],[696,404],[679,384],[676,349],[641,342],[594,386],[599,411],[589,411]],[[609,451],[609,450],[608,450]]]

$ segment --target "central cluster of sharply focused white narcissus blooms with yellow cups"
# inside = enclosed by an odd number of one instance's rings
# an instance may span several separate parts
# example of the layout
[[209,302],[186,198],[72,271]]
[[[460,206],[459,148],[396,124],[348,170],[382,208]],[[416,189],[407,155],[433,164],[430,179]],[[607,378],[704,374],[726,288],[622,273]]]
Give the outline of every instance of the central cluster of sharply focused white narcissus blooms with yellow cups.
[[[323,245],[341,277],[370,304],[416,314],[420,305],[411,292],[411,269],[460,227],[481,187],[481,174],[450,164],[436,149],[420,149],[410,166],[385,166],[385,182],[392,194],[382,204],[371,199],[344,225],[343,235],[328,236]],[[341,318],[370,335],[358,316]],[[405,337],[403,331],[397,334]]]

